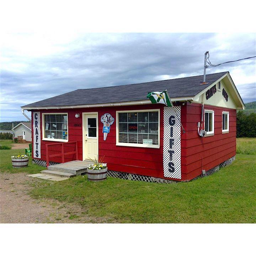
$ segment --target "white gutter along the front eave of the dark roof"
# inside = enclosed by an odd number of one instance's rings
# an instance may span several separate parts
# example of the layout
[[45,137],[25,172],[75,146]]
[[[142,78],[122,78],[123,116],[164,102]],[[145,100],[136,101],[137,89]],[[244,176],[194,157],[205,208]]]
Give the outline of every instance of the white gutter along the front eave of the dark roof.
[[[188,97],[188,98],[171,98],[171,101],[172,102],[173,101],[193,101],[193,98],[192,97]],[[50,107],[21,107],[21,109],[22,109],[22,113],[23,113],[24,110],[41,110],[41,109],[48,110],[48,109],[90,108],[90,107],[115,107],[115,106],[133,106],[133,105],[146,105],[146,104],[151,104],[151,101],[150,100],[128,101],[128,102],[117,102],[117,103],[76,105],[76,106],[59,106],[59,107],[58,106],[50,106]]]

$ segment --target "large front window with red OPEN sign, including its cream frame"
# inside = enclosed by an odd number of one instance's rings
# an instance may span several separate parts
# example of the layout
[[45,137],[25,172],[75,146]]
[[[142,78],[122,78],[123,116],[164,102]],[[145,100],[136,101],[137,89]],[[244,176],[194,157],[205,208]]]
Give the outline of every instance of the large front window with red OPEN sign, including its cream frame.
[[117,145],[159,148],[159,110],[117,111]]

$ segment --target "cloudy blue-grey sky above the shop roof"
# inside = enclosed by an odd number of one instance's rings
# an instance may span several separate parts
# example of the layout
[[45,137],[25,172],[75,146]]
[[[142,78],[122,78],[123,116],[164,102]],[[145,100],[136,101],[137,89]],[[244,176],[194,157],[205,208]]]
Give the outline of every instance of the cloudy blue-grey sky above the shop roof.
[[[207,50],[212,64],[251,57],[255,34],[5,34],[1,122],[25,120],[20,106],[76,89],[201,75]],[[207,69],[222,71],[245,103],[256,100],[255,58]]]

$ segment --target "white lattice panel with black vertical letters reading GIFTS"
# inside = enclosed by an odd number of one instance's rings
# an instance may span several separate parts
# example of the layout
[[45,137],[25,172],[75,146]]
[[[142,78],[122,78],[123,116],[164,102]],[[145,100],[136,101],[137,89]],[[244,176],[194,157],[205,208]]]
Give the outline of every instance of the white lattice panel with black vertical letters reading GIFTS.
[[[175,113],[175,110],[176,113]],[[164,107],[164,177],[181,179],[181,107]]]

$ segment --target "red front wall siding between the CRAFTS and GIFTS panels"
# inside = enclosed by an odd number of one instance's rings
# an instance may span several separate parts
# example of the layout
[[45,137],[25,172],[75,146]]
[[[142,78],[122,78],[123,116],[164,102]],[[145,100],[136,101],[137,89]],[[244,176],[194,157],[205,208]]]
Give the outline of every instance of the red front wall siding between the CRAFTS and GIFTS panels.
[[[126,107],[104,107],[104,108],[81,108],[81,109],[65,109],[65,110],[42,110],[42,113],[68,113],[68,137],[69,141],[78,143],[79,159],[82,160],[82,113],[83,112],[98,112],[98,153],[99,157],[105,156],[104,161],[107,162],[108,168],[114,171],[126,171],[136,174],[161,177],[163,178],[163,108],[164,105],[142,105],[142,106],[126,106]],[[160,148],[138,148],[131,146],[116,146],[116,111],[121,110],[150,110],[160,109]],[[75,114],[79,113],[80,117],[75,118]],[[115,119],[111,126],[107,140],[103,140],[102,127],[100,121],[104,113],[110,113]],[[41,122],[42,123],[42,122]],[[81,124],[80,127],[75,124]],[[42,124],[41,124],[42,134]],[[41,159],[46,160],[46,144],[52,144],[52,141],[41,141]],[[58,142],[56,142],[58,143]],[[50,153],[60,153],[61,147],[49,147]],[[65,151],[73,150],[72,146],[67,146]],[[75,155],[70,155],[65,158],[65,161],[74,160]],[[61,158],[51,158],[50,161],[60,162]]]

